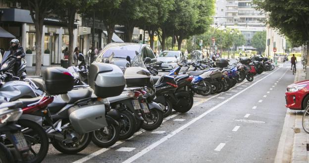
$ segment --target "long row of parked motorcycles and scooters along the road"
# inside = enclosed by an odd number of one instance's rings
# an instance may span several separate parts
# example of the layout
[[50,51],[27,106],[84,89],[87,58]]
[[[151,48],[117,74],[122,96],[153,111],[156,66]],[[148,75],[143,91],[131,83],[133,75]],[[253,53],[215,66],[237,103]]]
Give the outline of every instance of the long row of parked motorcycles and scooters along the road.
[[[169,75],[155,76],[160,62],[136,53],[130,67],[119,67],[113,54],[102,62],[50,67],[43,79],[26,78],[24,67],[13,72],[14,58],[0,68],[0,162],[41,163],[49,145],[76,154],[90,142],[107,148],[129,139],[141,128],[154,130],[172,110],[187,112],[194,94],[227,91],[247,78],[253,81],[259,61],[240,58],[185,62]],[[222,67],[222,68],[221,68]],[[264,67],[264,66],[263,66]],[[264,69],[263,69],[264,70]]]

